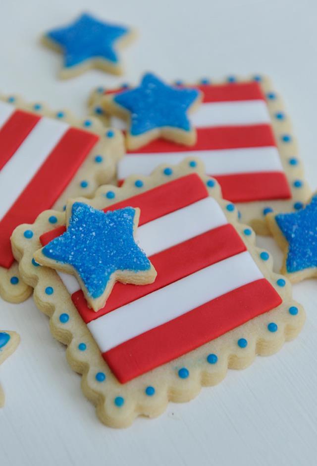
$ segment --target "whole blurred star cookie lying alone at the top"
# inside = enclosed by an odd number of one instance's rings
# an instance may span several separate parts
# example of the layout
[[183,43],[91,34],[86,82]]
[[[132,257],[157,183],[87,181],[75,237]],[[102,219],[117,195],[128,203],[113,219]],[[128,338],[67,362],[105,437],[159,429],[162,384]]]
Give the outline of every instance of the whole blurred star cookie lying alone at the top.
[[122,74],[117,49],[133,38],[134,32],[83,13],[68,26],[52,29],[44,35],[45,45],[61,50],[64,63],[62,78],[77,76],[90,68]]

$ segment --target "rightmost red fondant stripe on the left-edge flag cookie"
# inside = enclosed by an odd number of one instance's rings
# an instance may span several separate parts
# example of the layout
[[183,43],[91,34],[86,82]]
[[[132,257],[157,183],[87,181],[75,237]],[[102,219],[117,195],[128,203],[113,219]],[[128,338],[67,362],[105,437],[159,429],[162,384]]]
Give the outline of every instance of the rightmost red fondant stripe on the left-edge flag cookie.
[[60,139],[30,183],[0,221],[0,266],[13,263],[10,235],[21,223],[32,223],[54,202],[69,184],[99,136],[70,128]]

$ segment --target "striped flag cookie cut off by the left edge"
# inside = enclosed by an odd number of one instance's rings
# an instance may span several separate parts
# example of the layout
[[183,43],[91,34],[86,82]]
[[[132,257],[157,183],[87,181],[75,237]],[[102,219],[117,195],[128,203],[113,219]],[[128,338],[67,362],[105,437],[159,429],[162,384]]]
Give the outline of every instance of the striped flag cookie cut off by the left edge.
[[[19,277],[10,236],[20,223],[33,222],[51,207],[62,209],[69,196],[91,196],[114,173],[123,154],[119,131],[94,118],[76,120],[65,111],[0,99],[0,294],[19,302],[31,289]],[[49,220],[54,225],[55,218]],[[28,233],[26,233],[26,238]],[[29,238],[30,239],[30,238]]]

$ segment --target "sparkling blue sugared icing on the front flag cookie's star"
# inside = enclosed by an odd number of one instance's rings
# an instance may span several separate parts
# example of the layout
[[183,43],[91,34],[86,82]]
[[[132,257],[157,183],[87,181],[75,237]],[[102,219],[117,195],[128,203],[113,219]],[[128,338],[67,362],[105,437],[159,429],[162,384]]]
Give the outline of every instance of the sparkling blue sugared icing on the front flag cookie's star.
[[150,270],[151,263],[135,243],[135,209],[106,212],[81,202],[72,206],[67,231],[49,242],[42,252],[50,259],[70,264],[88,294],[101,296],[116,270]]

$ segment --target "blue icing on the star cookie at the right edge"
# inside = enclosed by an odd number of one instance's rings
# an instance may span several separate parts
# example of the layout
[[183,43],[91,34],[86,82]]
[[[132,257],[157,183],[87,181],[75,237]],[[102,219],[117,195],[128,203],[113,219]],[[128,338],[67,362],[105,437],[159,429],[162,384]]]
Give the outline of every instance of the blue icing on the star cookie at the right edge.
[[278,214],[275,220],[289,244],[287,272],[317,267],[317,196],[298,212]]

